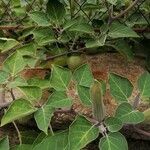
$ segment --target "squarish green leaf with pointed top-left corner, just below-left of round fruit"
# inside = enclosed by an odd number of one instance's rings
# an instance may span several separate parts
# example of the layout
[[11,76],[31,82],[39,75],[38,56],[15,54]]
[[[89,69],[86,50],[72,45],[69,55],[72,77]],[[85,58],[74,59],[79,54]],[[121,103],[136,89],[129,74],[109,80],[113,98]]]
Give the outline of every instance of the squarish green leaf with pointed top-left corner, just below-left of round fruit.
[[52,65],[50,84],[56,91],[66,91],[72,73],[69,69]]

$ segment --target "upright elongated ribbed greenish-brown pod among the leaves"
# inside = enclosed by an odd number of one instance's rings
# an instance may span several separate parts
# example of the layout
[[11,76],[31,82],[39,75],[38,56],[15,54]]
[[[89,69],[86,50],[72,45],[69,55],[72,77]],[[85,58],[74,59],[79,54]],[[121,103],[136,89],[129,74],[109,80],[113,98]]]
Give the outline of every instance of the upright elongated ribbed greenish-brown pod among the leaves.
[[93,116],[97,121],[102,122],[105,118],[105,105],[103,102],[102,87],[99,81],[95,80],[90,87],[90,96],[93,104]]

